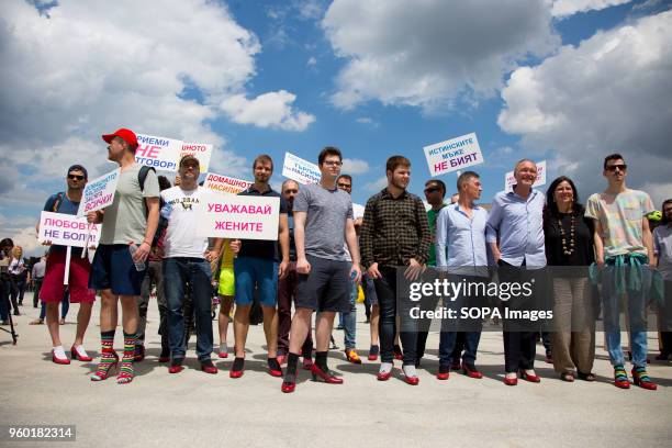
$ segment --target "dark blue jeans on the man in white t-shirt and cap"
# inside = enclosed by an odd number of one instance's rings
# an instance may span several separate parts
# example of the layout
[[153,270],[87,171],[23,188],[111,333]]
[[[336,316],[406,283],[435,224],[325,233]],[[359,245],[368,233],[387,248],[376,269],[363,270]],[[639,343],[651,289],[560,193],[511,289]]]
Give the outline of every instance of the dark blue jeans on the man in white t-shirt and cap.
[[164,288],[168,302],[168,340],[172,359],[187,354],[184,336],[184,285],[189,283],[193,300],[199,361],[212,354],[211,292],[212,272],[203,258],[175,257],[164,259]]

